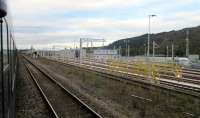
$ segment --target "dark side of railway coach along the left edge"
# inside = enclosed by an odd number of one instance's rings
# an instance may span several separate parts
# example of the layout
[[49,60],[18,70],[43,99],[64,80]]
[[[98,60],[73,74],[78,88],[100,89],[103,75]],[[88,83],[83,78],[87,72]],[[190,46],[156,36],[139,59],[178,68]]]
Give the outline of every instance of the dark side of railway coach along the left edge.
[[6,1],[0,0],[0,118],[15,117],[16,62],[16,46]]

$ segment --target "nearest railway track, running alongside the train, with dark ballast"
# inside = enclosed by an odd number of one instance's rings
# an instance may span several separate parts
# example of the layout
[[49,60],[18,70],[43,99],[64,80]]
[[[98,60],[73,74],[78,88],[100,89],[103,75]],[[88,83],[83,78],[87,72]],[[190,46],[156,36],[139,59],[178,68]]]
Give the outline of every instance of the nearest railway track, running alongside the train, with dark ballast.
[[61,83],[24,57],[24,64],[56,118],[102,118]]

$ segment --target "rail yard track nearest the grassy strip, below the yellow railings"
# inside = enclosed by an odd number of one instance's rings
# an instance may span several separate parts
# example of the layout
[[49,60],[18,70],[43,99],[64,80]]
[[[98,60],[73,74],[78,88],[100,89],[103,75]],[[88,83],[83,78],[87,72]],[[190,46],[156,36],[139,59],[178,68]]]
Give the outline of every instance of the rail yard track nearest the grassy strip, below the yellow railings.
[[[52,61],[55,61],[55,60],[52,60]],[[76,63],[76,62],[69,62],[69,63],[60,62],[60,61],[56,61],[56,62],[66,64],[66,65],[81,67],[84,70],[89,70],[89,71],[99,73],[101,76],[108,75],[109,76],[108,78],[112,78],[112,76],[113,76],[118,79],[129,80],[129,81],[139,82],[139,83],[148,84],[148,85],[151,84],[153,86],[157,86],[160,88],[185,93],[185,94],[192,95],[195,97],[200,97],[200,88],[199,87],[191,86],[190,84],[186,84],[184,82],[179,82],[177,80],[168,80],[168,79],[161,78],[158,83],[154,84],[154,83],[150,82],[150,79],[147,79],[146,77],[144,77],[142,75],[127,73],[127,72],[120,72],[120,71],[116,71],[116,70],[110,70],[108,68],[92,66],[92,65],[84,64],[84,63],[80,64],[80,63]],[[81,69],[81,68],[79,68],[79,69]]]

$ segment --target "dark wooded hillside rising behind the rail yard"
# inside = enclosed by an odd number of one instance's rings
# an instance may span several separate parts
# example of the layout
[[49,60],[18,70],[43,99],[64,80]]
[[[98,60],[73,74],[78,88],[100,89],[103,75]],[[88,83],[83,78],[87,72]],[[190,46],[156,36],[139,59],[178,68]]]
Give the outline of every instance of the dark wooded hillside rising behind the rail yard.
[[[175,45],[175,56],[185,56],[186,48],[186,31],[190,31],[190,54],[200,55],[200,26],[193,28],[185,28],[178,31],[162,32],[158,34],[151,34],[150,52],[152,53],[152,40],[154,39],[158,47],[156,48],[156,55],[166,55],[167,46],[169,49],[169,56],[171,55],[171,44],[172,40]],[[145,54],[145,44],[147,45],[148,35],[144,34],[138,37],[121,39],[113,42],[106,48],[122,48],[122,55],[125,55],[125,40],[129,40],[130,44],[130,55],[144,55]]]

